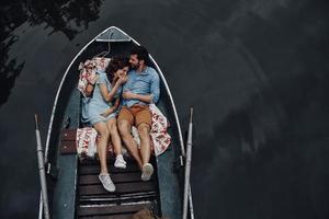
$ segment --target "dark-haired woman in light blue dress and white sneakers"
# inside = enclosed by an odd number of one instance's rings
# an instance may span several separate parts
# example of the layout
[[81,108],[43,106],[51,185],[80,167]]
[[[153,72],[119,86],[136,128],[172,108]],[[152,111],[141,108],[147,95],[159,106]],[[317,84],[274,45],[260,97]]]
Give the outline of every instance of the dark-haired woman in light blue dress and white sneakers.
[[[115,191],[106,164],[106,147],[110,137],[116,153],[114,166],[126,168],[126,162],[122,155],[122,142],[116,127],[116,111],[120,105],[118,97],[122,91],[122,84],[127,81],[126,74],[128,70],[129,62],[127,59],[118,57],[111,59],[106,72],[97,72],[93,95],[88,103],[88,122],[100,136],[97,143],[101,163],[99,178],[104,188],[109,192]],[[112,83],[107,77],[112,80]],[[113,104],[114,100],[115,103]]]

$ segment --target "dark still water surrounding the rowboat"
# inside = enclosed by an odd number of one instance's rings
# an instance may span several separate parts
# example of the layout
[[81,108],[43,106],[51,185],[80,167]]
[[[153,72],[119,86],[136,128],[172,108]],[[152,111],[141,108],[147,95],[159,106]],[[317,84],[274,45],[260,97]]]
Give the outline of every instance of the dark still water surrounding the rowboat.
[[196,218],[329,218],[329,15],[320,0],[2,1],[1,218],[36,218],[43,142],[73,56],[116,25],[195,108]]

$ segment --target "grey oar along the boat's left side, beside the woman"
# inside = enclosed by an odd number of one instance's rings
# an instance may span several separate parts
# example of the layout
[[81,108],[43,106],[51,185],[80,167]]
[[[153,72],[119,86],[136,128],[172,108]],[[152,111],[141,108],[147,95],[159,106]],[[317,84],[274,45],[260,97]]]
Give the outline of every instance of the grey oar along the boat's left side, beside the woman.
[[42,197],[44,204],[44,215],[45,219],[50,219],[49,215],[49,206],[48,206],[48,194],[47,194],[47,183],[46,183],[46,172],[45,172],[45,161],[43,147],[39,137],[37,115],[34,115],[35,118],[35,136],[36,136],[36,152],[37,152],[37,163],[38,163],[38,172],[39,172],[39,182],[42,186]]

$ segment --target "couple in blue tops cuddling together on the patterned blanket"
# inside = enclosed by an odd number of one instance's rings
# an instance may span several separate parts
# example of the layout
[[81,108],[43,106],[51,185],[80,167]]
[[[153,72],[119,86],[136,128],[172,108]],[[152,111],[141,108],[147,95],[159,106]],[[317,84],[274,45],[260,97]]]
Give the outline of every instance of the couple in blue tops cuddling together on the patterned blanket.
[[[109,192],[115,191],[106,164],[107,145],[112,141],[116,159],[115,168],[126,168],[122,154],[122,141],[141,170],[141,180],[149,181],[154,166],[151,153],[151,113],[149,104],[160,95],[159,76],[148,65],[148,51],[136,46],[129,58],[113,57],[105,71],[98,70],[94,80],[88,82],[84,99],[83,122],[88,122],[99,135],[97,141],[101,164],[99,178]],[[132,135],[132,126],[138,130],[140,149]]]

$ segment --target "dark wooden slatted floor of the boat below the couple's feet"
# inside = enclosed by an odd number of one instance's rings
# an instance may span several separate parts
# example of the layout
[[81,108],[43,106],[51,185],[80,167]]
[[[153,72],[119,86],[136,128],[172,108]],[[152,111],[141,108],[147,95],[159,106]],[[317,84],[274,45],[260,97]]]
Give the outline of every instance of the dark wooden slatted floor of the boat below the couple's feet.
[[[99,181],[99,161],[87,160],[79,163],[77,217],[79,219],[131,219],[143,208],[158,214],[156,171],[150,181],[144,182],[140,180],[140,170],[132,158],[125,157],[126,169],[114,168],[113,160],[110,159],[107,165],[111,178],[116,186],[114,193],[106,192]],[[156,169],[156,160],[151,159],[151,162]]]

